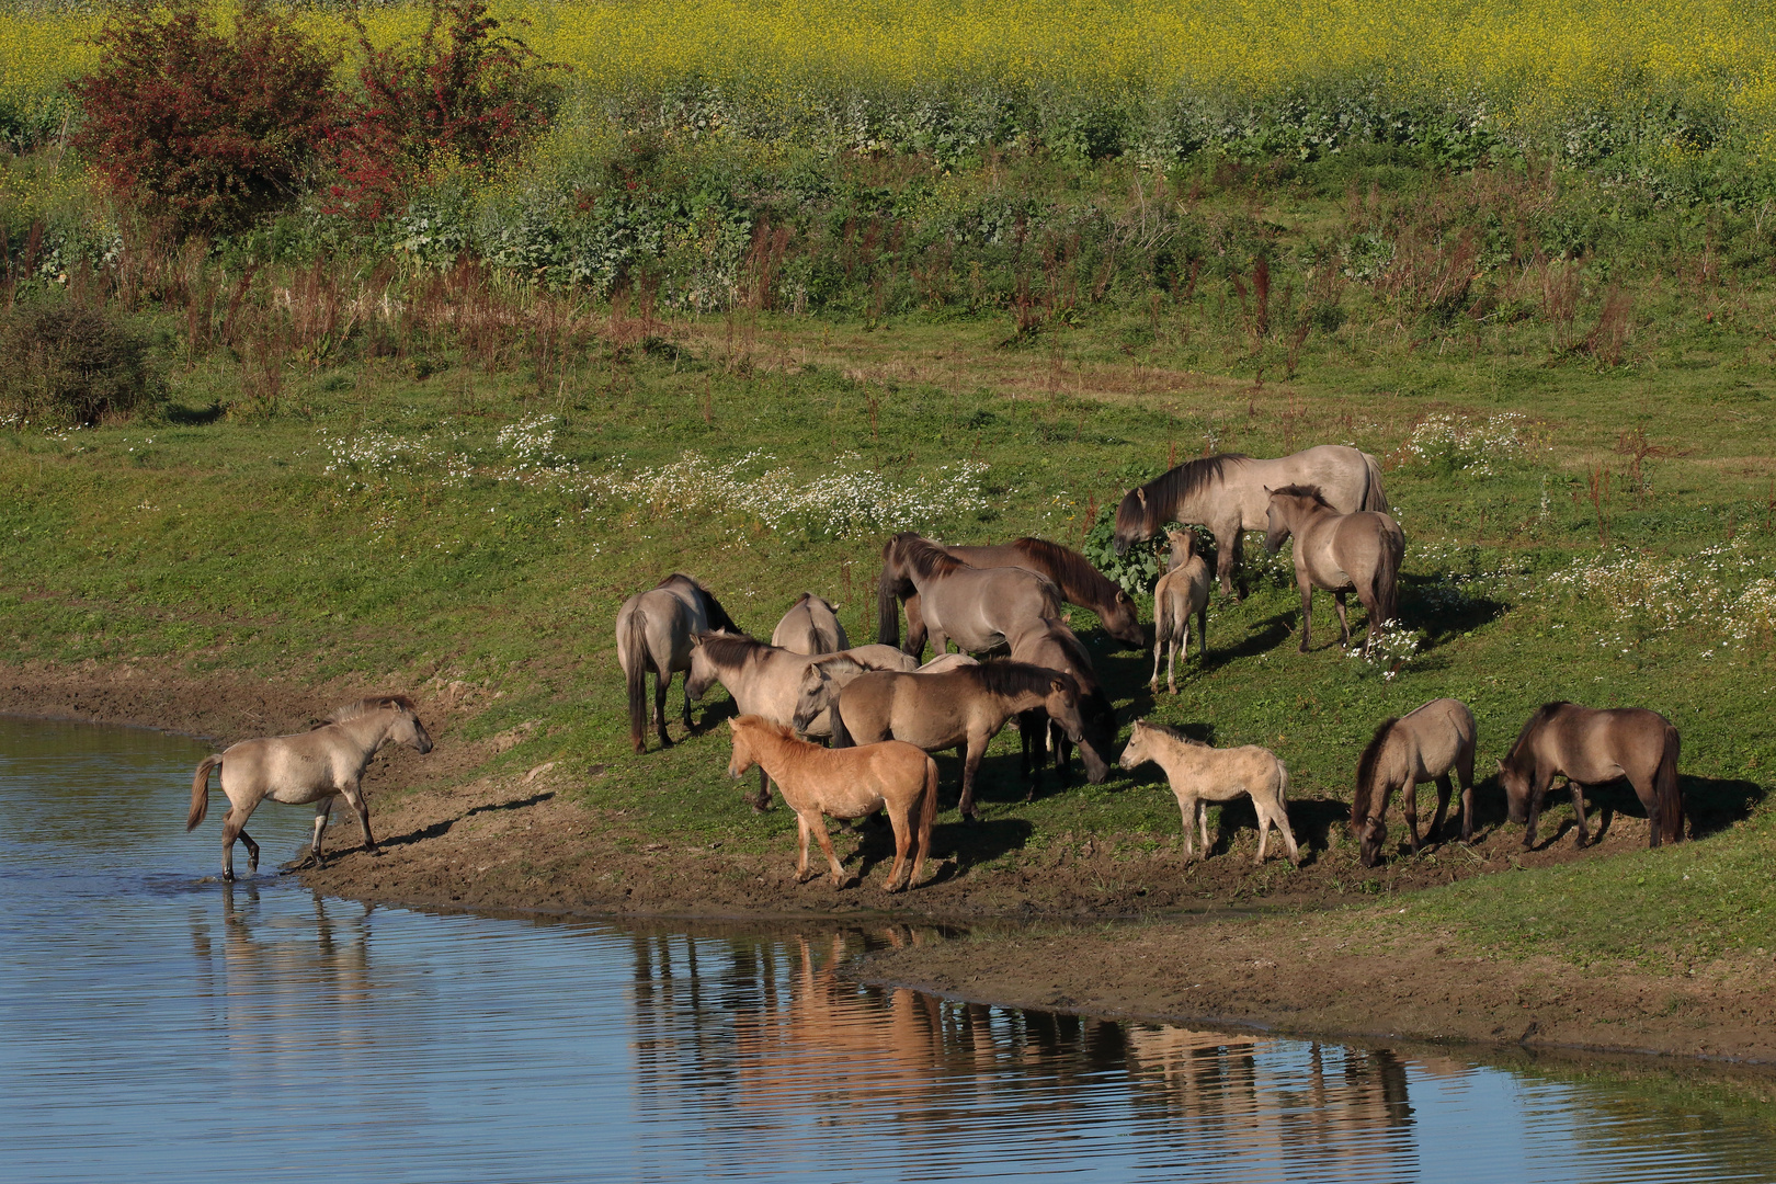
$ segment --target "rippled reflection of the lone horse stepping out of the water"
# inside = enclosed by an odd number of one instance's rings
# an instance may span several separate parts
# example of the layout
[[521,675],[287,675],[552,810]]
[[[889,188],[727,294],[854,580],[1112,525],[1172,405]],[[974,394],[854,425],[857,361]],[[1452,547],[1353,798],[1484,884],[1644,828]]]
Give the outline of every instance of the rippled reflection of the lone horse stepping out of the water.
[[[289,893],[222,884],[222,925],[213,902],[192,911],[197,983],[215,1003],[215,1021],[236,1051],[274,1056],[350,1054],[377,1044],[371,1006],[369,914],[375,905],[327,902],[288,909]],[[337,914],[346,914],[343,920]],[[327,1021],[313,1028],[277,1022],[288,1012]]]

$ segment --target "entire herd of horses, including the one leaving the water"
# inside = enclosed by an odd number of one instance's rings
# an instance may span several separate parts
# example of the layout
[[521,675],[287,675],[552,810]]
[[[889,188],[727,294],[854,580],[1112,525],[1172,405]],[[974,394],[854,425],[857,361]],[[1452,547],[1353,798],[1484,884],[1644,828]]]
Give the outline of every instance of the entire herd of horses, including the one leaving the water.
[[[1330,591],[1343,644],[1350,646],[1346,596],[1368,612],[1364,651],[1398,616],[1398,579],[1405,536],[1392,518],[1375,456],[1355,447],[1320,446],[1277,460],[1240,454],[1204,456],[1137,486],[1115,513],[1115,550],[1165,538],[1167,572],[1154,588],[1153,680],[1158,691],[1162,650],[1170,648],[1167,687],[1176,692],[1176,650],[1190,620],[1197,621],[1199,662],[1208,630],[1209,570],[1197,554],[1195,533],[1215,538],[1224,595],[1245,595],[1241,540],[1265,531],[1275,554],[1295,540],[1295,579],[1302,595],[1302,639],[1307,651],[1314,589]],[[1135,600],[1098,572],[1085,556],[1037,538],[1000,547],[947,547],[916,533],[900,533],[883,547],[877,580],[877,643],[852,646],[835,607],[803,593],[764,643],[744,634],[714,593],[675,573],[657,588],[623,602],[616,614],[616,655],[629,698],[629,733],[636,753],[646,751],[652,726],[670,746],[666,694],[684,675],[682,724],[694,733],[693,701],[721,683],[737,715],[728,719],[735,777],[758,769],[753,808],[765,809],[771,788],[796,811],[797,877],[812,879],[808,840],[819,841],[835,886],[845,882],[828,836],[828,818],[858,820],[886,813],[893,827],[895,863],[888,891],[920,880],[931,854],[938,813],[938,765],[932,753],[955,749],[963,760],[959,813],[979,818],[975,779],[987,744],[1012,719],[1021,735],[1021,772],[1034,799],[1043,769],[1053,762],[1062,785],[1071,779],[1076,749],[1085,777],[1101,783],[1117,738],[1117,717],[1073,632],[1064,605],[1094,612],[1103,630],[1130,648],[1146,650],[1147,630]],[[902,639],[900,618],[906,618]],[[927,643],[934,659],[924,662]],[[959,653],[950,653],[955,644]],[[975,655],[984,655],[986,660]],[[654,675],[652,712],[646,676]],[[375,849],[369,811],[359,781],[385,742],[426,753],[432,740],[405,696],[371,696],[336,712],[307,733],[247,740],[206,758],[192,783],[186,829],[204,818],[208,779],[220,769],[229,811],[222,827],[222,873],[233,879],[233,845],[247,845],[258,866],[258,843],[245,833],[254,808],[314,802],[311,859],[321,857],[321,834],[336,797],[357,815],[364,847]],[[824,744],[821,744],[824,742]],[[1433,699],[1384,721],[1357,763],[1352,833],[1366,866],[1385,852],[1385,813],[1396,792],[1407,820],[1408,847],[1431,841],[1453,797],[1451,774],[1462,785],[1462,840],[1474,833],[1472,712],[1456,699]],[[1135,769],[1153,762],[1177,797],[1186,857],[1195,857],[1192,833],[1201,831],[1204,857],[1213,849],[1208,804],[1252,799],[1263,863],[1275,827],[1291,863],[1300,849],[1288,817],[1288,769],[1268,749],[1218,749],[1156,722],[1137,719],[1117,763]],[[1650,843],[1680,840],[1684,801],[1677,777],[1678,733],[1662,715],[1641,708],[1591,710],[1549,703],[1524,724],[1499,762],[1499,783],[1511,822],[1526,827],[1524,847],[1536,841],[1542,801],[1556,777],[1566,777],[1579,815],[1581,847],[1588,843],[1582,792],[1627,779],[1650,818]],[[1437,813],[1424,838],[1417,827],[1417,788],[1437,785]]]

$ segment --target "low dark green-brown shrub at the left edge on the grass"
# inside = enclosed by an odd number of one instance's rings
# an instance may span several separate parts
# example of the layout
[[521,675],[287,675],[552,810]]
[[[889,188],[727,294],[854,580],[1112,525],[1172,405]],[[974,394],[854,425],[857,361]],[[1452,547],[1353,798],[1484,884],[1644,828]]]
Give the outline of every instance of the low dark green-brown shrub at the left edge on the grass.
[[147,341],[99,309],[18,307],[0,320],[0,421],[91,424],[155,405]]

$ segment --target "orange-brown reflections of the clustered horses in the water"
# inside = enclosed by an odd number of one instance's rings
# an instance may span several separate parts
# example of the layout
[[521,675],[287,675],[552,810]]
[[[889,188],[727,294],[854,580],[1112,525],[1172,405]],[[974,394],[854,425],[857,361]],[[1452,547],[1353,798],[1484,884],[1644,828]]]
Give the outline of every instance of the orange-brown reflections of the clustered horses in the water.
[[1348,1163],[1391,1177],[1414,1170],[1408,1067],[1453,1067],[954,1003],[844,976],[856,955],[943,941],[936,930],[632,941],[645,1095],[686,1115],[732,1111],[758,1164],[805,1145],[797,1115],[812,1108],[868,1113],[931,1172],[977,1163],[984,1145],[1060,1163],[1105,1124],[1135,1124],[1179,1129],[1138,1152],[1156,1168],[1217,1161],[1325,1179],[1327,1164]]

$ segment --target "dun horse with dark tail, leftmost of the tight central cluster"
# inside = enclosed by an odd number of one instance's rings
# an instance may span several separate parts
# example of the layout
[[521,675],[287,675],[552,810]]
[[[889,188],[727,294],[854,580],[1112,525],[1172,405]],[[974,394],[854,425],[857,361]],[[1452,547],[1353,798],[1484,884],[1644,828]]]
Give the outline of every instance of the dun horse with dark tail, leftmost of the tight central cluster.
[[[741,632],[707,588],[684,573],[668,575],[657,588],[636,593],[616,611],[616,662],[629,687],[629,744],[648,747],[648,671],[654,671],[654,724],[661,747],[666,735],[666,691],[677,671],[691,669],[691,639],[698,634]],[[691,728],[691,694],[684,696],[684,730]]]

